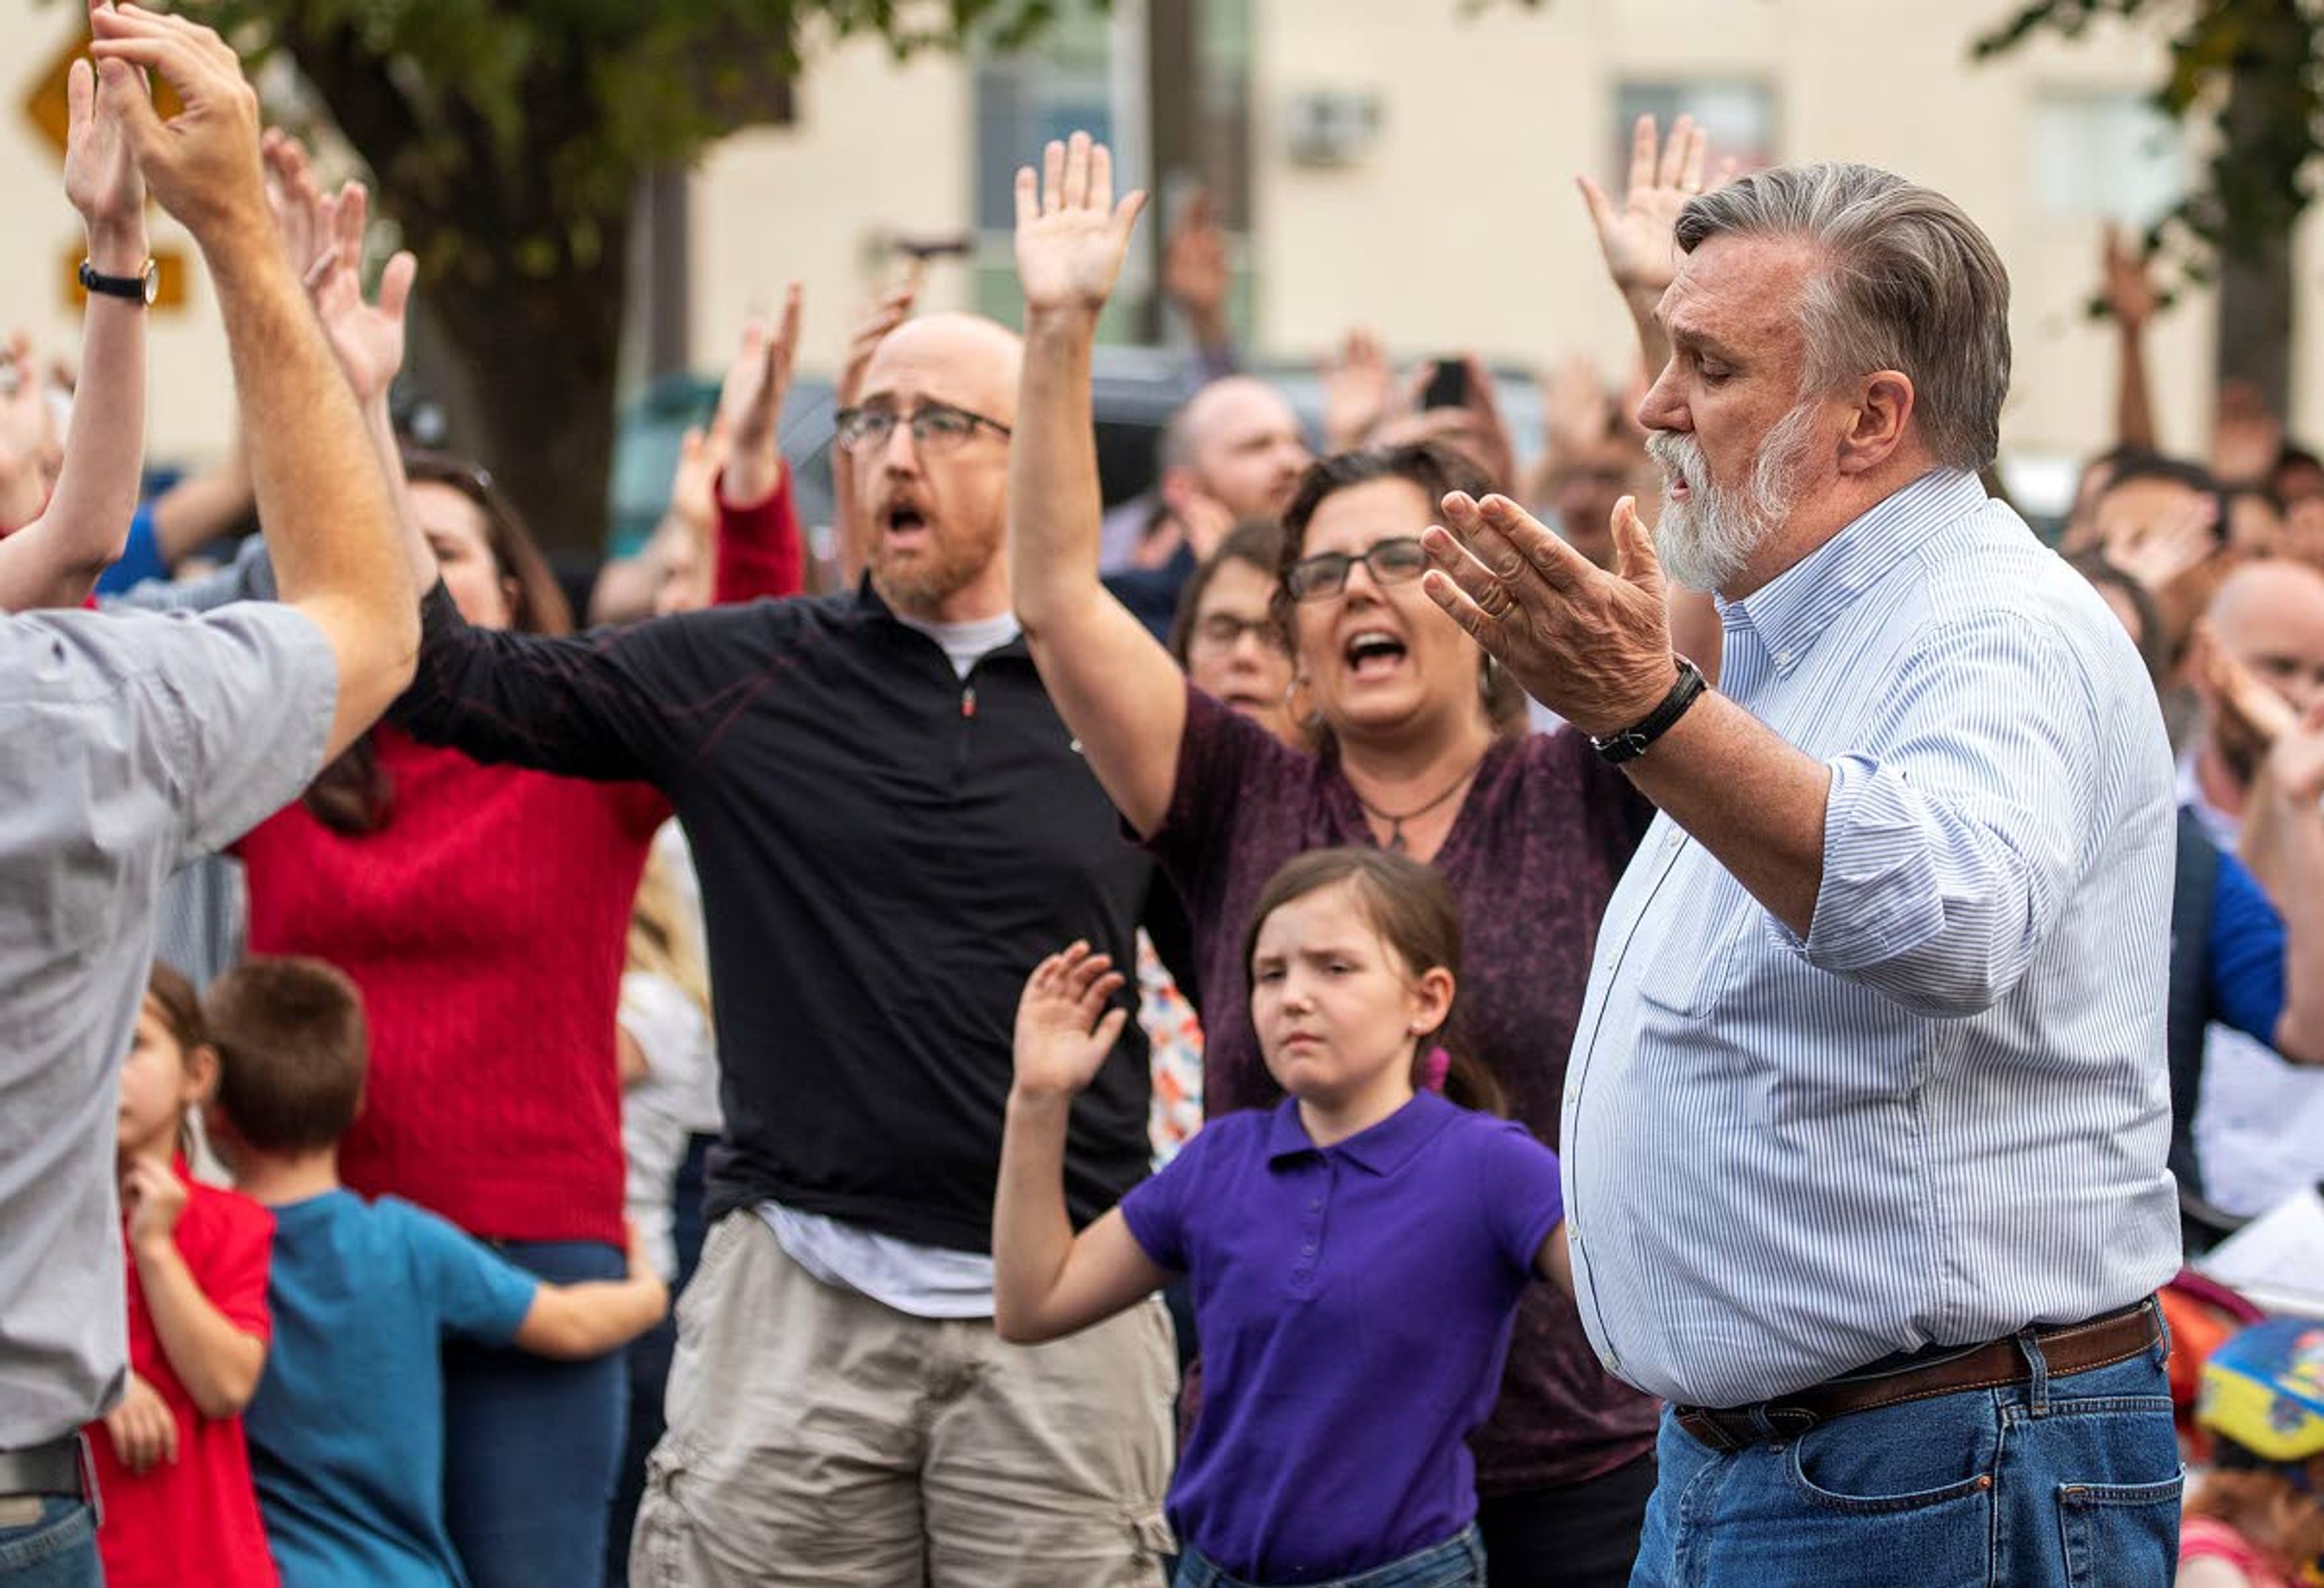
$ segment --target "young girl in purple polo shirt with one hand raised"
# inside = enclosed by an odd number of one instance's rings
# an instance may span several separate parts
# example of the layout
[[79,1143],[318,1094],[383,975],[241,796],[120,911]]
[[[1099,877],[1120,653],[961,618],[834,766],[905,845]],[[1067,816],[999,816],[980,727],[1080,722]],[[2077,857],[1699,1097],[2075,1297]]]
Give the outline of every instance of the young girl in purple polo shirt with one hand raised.
[[1492,1411],[1518,1297],[1573,1283],[1557,1156],[1457,1107],[1497,1093],[1450,1037],[1459,911],[1429,867],[1299,856],[1253,909],[1246,965],[1290,1097],[1211,1121],[1081,1235],[1064,1123],[1122,1025],[1106,1007],[1122,977],[1088,944],[1032,972],[995,1323],[1055,1339],[1190,1276],[1204,1404],[1169,1497],[1178,1588],[1480,1586],[1466,1435]]

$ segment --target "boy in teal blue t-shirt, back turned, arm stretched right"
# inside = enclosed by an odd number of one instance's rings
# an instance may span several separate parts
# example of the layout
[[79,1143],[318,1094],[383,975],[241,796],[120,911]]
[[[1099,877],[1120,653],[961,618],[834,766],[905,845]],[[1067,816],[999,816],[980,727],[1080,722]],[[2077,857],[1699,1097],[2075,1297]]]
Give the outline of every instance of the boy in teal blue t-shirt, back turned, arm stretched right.
[[344,1190],[367,1037],[337,970],[246,960],[207,1014],[209,1139],[274,1211],[274,1353],[244,1425],[284,1588],[465,1588],[444,1523],[444,1337],[602,1355],[662,1318],[662,1279],[632,1239],[627,1279],[541,1283],[430,1211]]

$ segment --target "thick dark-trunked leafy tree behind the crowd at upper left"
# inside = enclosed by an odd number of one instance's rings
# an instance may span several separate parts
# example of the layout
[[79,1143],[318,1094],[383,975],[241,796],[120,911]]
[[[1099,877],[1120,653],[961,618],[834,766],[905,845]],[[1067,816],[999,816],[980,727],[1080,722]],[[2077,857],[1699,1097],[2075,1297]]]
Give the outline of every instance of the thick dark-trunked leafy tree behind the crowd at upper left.
[[[802,33],[999,49],[1060,0],[179,0],[286,53],[421,260],[453,439],[555,546],[604,535],[648,172],[788,102]],[[776,267],[769,260],[769,270]]]

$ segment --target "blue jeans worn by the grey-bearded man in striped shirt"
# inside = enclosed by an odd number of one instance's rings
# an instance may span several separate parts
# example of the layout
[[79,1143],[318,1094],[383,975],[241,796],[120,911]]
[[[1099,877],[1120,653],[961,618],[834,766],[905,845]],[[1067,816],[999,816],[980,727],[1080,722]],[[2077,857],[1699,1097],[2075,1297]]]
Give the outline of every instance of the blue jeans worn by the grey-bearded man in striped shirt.
[[1631,1588],[2168,1588],[2185,1474],[2166,1344],[1710,1451],[1662,1414]]

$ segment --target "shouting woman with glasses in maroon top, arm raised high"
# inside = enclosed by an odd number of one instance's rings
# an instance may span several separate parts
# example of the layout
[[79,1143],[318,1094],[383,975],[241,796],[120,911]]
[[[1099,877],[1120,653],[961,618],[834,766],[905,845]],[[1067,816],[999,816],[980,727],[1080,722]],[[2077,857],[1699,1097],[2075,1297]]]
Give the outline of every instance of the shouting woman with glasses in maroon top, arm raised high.
[[[1239,963],[1267,877],[1308,849],[1376,844],[1452,886],[1471,1049],[1515,1118],[1555,1144],[1599,916],[1650,811],[1580,735],[1497,732],[1494,677],[1420,588],[1418,537],[1439,500],[1485,488],[1434,444],[1325,458],[1285,514],[1276,616],[1313,707],[1313,751],[1181,679],[1106,595],[1090,342],[1134,214],[1113,205],[1104,149],[1078,135],[1069,151],[1050,144],[1046,184],[1018,177],[1027,319],[1011,577],[1050,698],[1195,921],[1206,1111],[1281,1097]],[[1655,1402],[1599,1367],[1573,1302],[1536,1288],[1476,1439],[1494,1581],[1627,1581],[1655,1418]]]

